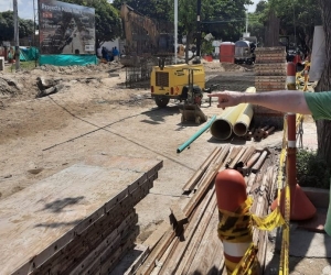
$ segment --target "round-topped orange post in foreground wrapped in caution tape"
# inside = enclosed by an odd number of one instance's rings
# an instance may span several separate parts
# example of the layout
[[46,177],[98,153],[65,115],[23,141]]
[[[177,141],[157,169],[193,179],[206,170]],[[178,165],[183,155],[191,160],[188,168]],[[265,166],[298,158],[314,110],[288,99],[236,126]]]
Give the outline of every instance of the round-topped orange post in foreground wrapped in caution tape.
[[217,232],[223,242],[227,274],[232,274],[253,243],[246,183],[239,172],[225,169],[216,176],[215,190],[220,218]]

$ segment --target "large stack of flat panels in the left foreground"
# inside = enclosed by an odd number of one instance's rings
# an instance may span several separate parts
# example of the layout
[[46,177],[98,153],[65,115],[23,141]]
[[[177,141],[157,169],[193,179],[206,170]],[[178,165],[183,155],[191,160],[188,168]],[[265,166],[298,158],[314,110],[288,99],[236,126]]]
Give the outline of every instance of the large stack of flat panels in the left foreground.
[[1,274],[109,274],[162,162],[96,156],[0,201]]

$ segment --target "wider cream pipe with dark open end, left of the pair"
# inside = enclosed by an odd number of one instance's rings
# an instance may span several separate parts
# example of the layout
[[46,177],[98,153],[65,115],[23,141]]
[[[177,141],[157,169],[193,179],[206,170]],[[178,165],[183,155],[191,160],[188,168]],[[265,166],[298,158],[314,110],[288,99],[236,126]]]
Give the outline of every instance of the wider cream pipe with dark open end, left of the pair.
[[233,125],[243,112],[246,103],[227,108],[211,125],[211,133],[217,140],[227,140],[233,133]]

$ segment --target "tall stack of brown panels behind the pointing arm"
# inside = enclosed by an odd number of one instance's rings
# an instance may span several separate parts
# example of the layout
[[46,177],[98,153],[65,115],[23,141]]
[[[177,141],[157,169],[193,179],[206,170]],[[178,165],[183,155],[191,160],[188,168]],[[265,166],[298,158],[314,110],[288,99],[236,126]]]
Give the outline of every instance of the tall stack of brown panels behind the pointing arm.
[[[256,61],[255,87],[256,92],[286,89],[286,48],[285,47],[257,47],[255,50]],[[265,107],[255,106],[254,116],[260,124],[274,124],[282,128],[282,112],[270,110]]]

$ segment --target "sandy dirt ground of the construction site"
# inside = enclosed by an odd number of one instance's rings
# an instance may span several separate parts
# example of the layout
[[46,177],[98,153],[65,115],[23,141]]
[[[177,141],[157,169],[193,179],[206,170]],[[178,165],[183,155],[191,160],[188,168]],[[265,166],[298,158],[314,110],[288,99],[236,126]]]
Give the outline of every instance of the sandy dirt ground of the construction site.
[[[250,67],[206,63],[206,86],[220,90],[239,90],[254,86]],[[53,79],[63,88],[36,98],[38,78]],[[282,131],[260,142],[231,139],[215,141],[209,131],[189,148],[177,148],[201,125],[181,123],[179,102],[164,109],[156,107],[146,87],[125,86],[126,72],[120,64],[87,67],[43,66],[31,72],[0,74],[0,199],[38,183],[93,155],[125,155],[163,161],[163,168],[150,194],[136,209],[140,235],[146,240],[162,220],[169,207],[182,196],[182,186],[216,146],[254,144],[280,147]],[[202,110],[209,118],[222,112],[216,102]],[[313,120],[305,122],[303,146],[316,146]],[[305,241],[305,240],[303,240]],[[271,251],[271,249],[270,249]],[[325,258],[291,258],[290,274],[322,274],[330,265]]]

